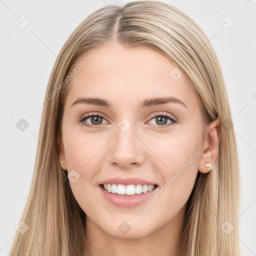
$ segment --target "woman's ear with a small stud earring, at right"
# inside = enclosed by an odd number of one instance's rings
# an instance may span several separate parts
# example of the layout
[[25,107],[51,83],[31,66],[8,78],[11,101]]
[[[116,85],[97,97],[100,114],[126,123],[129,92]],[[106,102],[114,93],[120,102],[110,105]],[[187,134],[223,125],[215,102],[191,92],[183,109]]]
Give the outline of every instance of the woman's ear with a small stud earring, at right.
[[218,152],[220,139],[220,125],[219,118],[211,122],[207,127],[206,135],[203,137],[203,144],[201,149],[201,157],[199,160],[198,170],[201,173],[207,173],[211,167],[206,167],[205,163],[210,163],[213,166]]

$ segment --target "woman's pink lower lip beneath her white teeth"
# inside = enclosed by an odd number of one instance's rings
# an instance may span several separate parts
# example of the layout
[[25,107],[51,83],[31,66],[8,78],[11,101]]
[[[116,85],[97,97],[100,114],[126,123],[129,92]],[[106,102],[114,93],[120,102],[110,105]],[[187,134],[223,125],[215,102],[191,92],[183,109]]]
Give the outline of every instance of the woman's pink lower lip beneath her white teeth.
[[101,185],[99,186],[105,198],[112,204],[119,207],[135,207],[145,202],[150,195],[155,192],[157,187],[154,187],[151,191],[134,195],[123,195],[107,192]]

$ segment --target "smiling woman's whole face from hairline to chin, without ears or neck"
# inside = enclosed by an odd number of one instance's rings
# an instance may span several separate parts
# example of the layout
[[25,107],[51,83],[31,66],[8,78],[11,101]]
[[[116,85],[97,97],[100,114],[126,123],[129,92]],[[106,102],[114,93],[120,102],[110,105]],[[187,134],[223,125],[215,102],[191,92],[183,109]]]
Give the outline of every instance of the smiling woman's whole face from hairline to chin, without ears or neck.
[[72,67],[61,159],[86,221],[139,238],[183,218],[203,146],[199,103],[160,52],[118,43],[97,49],[84,67],[89,51]]

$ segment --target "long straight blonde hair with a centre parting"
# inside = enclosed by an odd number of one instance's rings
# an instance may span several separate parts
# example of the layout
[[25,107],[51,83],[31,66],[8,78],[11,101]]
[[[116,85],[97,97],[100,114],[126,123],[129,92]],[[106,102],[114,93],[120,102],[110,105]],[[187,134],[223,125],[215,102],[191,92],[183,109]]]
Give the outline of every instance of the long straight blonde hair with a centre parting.
[[[21,216],[28,229],[16,231],[10,255],[82,255],[84,251],[86,215],[59,164],[57,141],[68,88],[63,81],[80,53],[109,40],[129,47],[145,45],[165,54],[193,85],[204,131],[220,119],[219,155],[208,173],[197,174],[187,201],[179,255],[239,256],[238,156],[218,59],[193,20],[168,3],[152,0],[98,9],[62,47],[47,86],[31,188]],[[226,228],[233,230],[224,232]]]

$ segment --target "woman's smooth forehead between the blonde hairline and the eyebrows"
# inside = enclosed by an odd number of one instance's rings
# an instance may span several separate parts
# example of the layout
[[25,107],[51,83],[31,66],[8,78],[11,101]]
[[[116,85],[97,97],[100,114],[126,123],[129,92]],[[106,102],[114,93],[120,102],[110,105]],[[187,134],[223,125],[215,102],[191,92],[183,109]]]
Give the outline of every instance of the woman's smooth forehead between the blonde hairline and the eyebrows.
[[77,73],[68,83],[68,105],[82,96],[106,98],[116,105],[166,96],[178,97],[187,105],[198,104],[191,84],[175,63],[151,47],[102,45],[80,54],[70,70],[74,68]]

